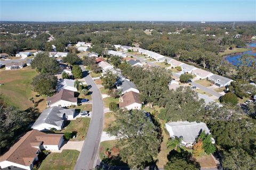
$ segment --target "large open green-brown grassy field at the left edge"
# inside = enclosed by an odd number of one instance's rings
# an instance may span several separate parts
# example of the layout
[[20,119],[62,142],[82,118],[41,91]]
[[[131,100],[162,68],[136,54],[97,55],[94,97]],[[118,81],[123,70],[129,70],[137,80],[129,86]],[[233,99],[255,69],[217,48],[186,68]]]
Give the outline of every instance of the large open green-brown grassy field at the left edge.
[[[31,90],[32,79],[37,75],[36,71],[30,67],[21,70],[1,70],[1,94],[4,101],[20,109],[33,107],[29,100],[35,93]],[[37,101],[38,98],[35,98]],[[22,101],[22,102],[21,102]]]

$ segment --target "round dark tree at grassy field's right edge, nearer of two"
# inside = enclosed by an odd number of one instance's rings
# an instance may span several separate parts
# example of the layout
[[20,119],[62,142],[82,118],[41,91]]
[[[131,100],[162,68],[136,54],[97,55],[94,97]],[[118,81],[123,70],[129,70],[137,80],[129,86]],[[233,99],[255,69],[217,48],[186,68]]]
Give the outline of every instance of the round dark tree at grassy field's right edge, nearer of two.
[[54,94],[58,79],[50,73],[39,74],[33,78],[31,83],[33,90],[40,95],[51,96]]

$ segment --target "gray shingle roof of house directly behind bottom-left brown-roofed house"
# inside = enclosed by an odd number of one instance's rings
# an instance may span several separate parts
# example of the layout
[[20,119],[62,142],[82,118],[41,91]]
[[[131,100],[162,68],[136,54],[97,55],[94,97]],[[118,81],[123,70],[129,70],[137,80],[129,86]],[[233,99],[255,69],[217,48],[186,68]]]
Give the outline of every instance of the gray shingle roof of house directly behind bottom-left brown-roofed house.
[[75,109],[65,109],[57,106],[47,108],[43,111],[43,113],[41,113],[31,128],[43,123],[61,126],[63,123],[63,114],[65,113],[66,115],[73,115],[74,112]]

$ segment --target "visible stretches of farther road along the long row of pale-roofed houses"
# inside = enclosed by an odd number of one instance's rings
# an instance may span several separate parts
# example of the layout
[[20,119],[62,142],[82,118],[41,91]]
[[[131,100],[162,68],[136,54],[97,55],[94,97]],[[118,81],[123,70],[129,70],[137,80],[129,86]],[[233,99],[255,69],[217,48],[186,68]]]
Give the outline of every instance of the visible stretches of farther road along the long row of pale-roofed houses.
[[[156,65],[156,64],[154,64],[154,63],[152,63],[152,62],[148,62],[148,61],[144,60],[144,59],[141,58],[141,57],[137,57],[137,56],[132,55],[132,54],[129,54],[129,56],[133,56],[133,58],[136,58],[137,60],[139,60],[139,61],[141,61],[141,62],[146,62],[146,63],[148,63],[148,64],[151,65],[151,66],[158,66],[158,65]],[[177,77],[177,78],[180,77],[180,75],[177,74],[177,73],[172,73],[172,74],[173,74],[175,77]],[[222,96],[222,95],[219,94],[218,92],[216,92],[216,91],[214,91],[214,90],[212,90],[212,89],[209,89],[209,88],[207,88],[207,87],[205,87],[205,86],[203,86],[203,85],[201,85],[201,84],[199,84],[199,83],[196,83],[196,82],[194,82],[194,81],[193,81],[191,84],[192,84],[193,86],[196,86],[196,87],[199,88],[199,89],[202,89],[202,90],[208,92],[209,94],[211,94],[211,95],[213,95],[213,96],[218,97],[218,98]],[[209,99],[209,101],[210,101],[210,99]]]

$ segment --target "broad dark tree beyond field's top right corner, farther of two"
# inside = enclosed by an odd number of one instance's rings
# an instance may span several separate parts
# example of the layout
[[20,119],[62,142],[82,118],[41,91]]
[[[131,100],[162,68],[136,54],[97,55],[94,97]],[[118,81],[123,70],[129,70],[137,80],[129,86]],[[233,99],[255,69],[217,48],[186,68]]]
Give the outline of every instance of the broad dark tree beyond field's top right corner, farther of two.
[[31,68],[37,69],[40,73],[57,74],[60,66],[55,58],[49,57],[48,53],[39,53],[31,62]]

